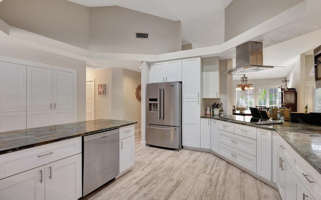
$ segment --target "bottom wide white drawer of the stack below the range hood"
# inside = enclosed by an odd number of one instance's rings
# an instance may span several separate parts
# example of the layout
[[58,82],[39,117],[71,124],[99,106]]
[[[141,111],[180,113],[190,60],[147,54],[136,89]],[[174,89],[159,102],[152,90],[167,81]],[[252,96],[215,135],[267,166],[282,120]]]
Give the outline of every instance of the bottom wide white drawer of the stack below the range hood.
[[231,161],[256,173],[256,157],[218,142],[218,152]]

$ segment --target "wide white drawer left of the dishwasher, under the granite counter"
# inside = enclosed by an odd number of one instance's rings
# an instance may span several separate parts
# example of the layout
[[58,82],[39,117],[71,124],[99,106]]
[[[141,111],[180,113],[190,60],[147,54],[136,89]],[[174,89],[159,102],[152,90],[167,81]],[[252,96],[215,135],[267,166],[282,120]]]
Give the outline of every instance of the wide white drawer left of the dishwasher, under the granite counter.
[[0,179],[81,153],[81,137],[0,155]]

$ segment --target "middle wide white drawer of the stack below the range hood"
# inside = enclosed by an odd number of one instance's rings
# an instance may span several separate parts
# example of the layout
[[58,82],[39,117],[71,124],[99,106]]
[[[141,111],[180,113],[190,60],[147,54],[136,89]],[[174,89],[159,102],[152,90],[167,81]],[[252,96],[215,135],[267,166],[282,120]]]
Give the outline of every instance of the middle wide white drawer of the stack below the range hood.
[[238,150],[256,156],[256,140],[219,130],[219,141]]

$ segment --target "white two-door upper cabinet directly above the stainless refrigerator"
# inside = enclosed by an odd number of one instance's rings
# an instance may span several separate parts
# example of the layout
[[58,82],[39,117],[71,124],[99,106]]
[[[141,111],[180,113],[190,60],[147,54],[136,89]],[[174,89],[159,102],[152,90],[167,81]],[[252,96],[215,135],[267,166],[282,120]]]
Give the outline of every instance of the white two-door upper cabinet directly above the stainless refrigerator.
[[149,69],[149,82],[182,81],[182,59],[154,62]]

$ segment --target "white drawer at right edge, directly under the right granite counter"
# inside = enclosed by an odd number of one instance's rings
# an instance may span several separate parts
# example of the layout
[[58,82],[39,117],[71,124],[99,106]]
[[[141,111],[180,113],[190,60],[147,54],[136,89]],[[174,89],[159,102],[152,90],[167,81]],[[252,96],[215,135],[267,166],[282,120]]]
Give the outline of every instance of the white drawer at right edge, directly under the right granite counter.
[[315,199],[321,199],[321,174],[299,154],[294,158],[294,173]]

